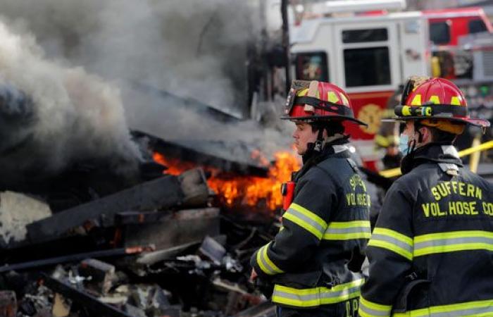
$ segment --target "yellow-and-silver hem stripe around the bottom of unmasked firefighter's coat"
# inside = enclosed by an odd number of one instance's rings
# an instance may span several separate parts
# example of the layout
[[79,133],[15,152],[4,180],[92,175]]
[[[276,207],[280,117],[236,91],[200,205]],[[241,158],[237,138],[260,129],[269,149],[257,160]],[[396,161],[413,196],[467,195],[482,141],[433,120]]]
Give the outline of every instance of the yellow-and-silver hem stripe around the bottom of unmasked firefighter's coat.
[[360,278],[349,283],[336,285],[332,288],[313,287],[297,289],[283,285],[275,285],[272,301],[294,307],[316,307],[335,304],[353,299],[360,295],[360,287],[364,279]]

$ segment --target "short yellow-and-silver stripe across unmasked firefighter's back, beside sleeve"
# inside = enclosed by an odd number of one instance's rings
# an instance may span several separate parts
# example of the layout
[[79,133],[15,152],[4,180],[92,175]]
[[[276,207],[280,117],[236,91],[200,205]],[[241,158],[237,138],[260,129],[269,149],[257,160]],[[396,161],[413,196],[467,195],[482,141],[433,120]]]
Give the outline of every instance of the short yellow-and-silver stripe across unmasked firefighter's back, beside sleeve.
[[323,240],[370,239],[369,220],[354,220],[329,223],[323,234]]

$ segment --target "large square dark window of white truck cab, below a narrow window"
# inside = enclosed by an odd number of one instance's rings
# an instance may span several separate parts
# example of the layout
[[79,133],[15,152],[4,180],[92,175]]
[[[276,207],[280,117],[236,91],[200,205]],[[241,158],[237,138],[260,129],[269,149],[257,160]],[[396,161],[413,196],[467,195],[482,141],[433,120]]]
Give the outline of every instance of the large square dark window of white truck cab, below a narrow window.
[[346,87],[390,85],[389,48],[344,49]]

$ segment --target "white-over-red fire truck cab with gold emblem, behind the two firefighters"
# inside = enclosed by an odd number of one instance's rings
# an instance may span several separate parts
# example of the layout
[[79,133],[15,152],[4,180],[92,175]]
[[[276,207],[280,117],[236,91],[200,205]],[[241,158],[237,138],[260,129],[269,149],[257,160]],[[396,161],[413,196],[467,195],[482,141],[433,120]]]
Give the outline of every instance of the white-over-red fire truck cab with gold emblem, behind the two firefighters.
[[368,168],[387,100],[408,76],[430,73],[428,20],[421,12],[302,20],[290,28],[294,77],[346,90],[368,128],[349,125]]

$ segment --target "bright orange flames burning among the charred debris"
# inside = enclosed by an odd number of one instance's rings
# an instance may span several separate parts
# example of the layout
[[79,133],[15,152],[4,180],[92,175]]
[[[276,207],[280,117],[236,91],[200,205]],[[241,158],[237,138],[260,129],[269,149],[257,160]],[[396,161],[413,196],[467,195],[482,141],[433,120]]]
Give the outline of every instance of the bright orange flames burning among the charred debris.
[[[297,156],[289,151],[277,152],[274,157],[275,163],[270,166],[267,178],[237,175],[227,177],[217,169],[204,168],[212,175],[207,181],[208,185],[218,193],[220,200],[227,206],[243,204],[254,207],[265,204],[268,209],[275,210],[282,206],[282,182],[288,181],[294,170],[299,170],[300,162]],[[252,153],[252,158],[268,163],[257,151]],[[154,161],[168,166],[165,173],[172,175],[196,167],[193,163],[168,159],[158,153],[154,153]]]

